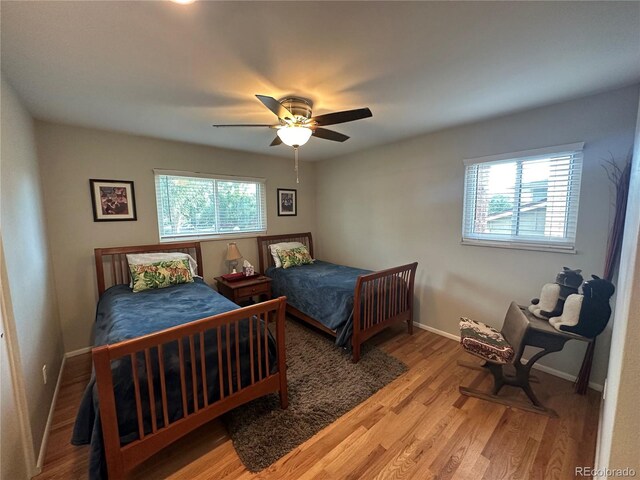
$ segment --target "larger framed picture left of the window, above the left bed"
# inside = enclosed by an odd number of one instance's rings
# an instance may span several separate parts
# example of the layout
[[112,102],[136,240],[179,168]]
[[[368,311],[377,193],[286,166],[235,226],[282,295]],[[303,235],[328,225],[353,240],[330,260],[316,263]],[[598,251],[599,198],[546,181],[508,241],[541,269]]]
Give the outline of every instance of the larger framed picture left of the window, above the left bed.
[[89,180],[94,222],[137,220],[133,182]]

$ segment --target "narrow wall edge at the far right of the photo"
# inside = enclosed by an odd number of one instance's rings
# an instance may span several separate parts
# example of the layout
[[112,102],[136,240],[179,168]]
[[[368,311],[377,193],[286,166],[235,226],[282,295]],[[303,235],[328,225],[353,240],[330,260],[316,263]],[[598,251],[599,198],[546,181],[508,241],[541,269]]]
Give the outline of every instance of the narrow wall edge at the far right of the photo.
[[[632,468],[640,474],[640,112],[633,154],[631,182],[616,312],[611,337],[607,390],[599,431],[597,465]],[[612,477],[613,478],[613,477]]]

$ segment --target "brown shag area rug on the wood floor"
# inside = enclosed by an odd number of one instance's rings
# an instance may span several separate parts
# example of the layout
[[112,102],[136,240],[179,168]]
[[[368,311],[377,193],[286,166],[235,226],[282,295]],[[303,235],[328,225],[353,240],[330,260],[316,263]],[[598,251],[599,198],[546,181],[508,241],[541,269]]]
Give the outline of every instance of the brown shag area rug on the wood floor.
[[334,340],[287,320],[289,408],[272,394],[223,417],[242,463],[258,472],[308,440],[407,370],[379,348],[363,345],[357,364]]

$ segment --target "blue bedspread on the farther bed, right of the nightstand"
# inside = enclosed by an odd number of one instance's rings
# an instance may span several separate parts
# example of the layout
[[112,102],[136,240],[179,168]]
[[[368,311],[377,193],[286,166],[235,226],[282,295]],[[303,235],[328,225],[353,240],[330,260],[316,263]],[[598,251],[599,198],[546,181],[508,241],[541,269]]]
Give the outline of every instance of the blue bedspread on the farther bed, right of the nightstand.
[[320,260],[286,269],[270,267],[265,272],[272,279],[273,295],[286,295],[292,307],[336,332],[338,346],[349,344],[356,279],[367,273],[371,271]]

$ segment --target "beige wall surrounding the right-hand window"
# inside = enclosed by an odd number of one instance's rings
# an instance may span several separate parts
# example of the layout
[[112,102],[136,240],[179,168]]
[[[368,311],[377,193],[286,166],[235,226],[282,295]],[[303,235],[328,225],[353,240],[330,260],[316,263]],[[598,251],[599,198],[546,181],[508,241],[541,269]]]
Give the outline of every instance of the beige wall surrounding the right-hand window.
[[[601,167],[632,145],[638,88],[474,123],[323,161],[317,170],[318,258],[378,269],[419,262],[416,320],[458,334],[458,317],[500,327],[511,300],[527,304],[562,266],[601,274],[610,191]],[[463,246],[463,159],[586,142],[575,255]],[[610,329],[598,340],[592,380],[606,374]],[[546,364],[579,370],[570,342]]]

